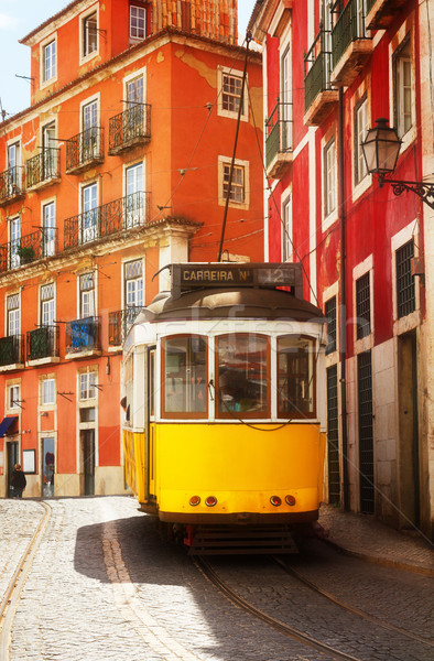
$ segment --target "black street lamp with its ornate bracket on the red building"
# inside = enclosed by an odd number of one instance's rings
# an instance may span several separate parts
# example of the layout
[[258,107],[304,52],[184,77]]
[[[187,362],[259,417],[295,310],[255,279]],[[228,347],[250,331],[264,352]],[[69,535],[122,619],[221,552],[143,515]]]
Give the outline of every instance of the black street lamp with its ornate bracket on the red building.
[[380,187],[388,182],[392,184],[393,193],[401,195],[404,191],[412,191],[434,209],[434,183],[409,182],[387,178],[387,174],[394,172],[402,140],[397,130],[388,127],[388,119],[376,120],[377,126],[369,129],[365,141],[361,143],[366,166],[370,174],[377,174]]

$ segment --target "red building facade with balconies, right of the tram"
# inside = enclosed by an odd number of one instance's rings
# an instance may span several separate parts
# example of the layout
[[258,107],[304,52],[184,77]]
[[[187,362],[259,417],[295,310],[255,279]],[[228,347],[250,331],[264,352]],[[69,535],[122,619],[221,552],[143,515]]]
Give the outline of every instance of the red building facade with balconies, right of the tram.
[[412,0],[262,0],[249,25],[264,48],[265,259],[303,262],[329,321],[326,498],[427,537],[433,198],[380,187],[361,142],[388,118],[393,178],[433,181],[432,20]]

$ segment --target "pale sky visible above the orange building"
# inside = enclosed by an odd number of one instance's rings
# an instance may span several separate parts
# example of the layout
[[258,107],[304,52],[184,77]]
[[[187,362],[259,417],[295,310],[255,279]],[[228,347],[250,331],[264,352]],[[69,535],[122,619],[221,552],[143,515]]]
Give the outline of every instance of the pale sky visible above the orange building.
[[[19,40],[70,0],[0,0],[0,110],[15,115],[30,106],[30,47]],[[238,30],[246,35],[254,0],[238,0]]]

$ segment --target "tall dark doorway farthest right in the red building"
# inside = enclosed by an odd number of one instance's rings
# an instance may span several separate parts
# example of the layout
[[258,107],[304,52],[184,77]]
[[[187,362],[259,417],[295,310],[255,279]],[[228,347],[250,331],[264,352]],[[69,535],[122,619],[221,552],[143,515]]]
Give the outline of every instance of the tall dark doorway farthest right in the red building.
[[401,527],[420,525],[417,345],[415,333],[398,338]]

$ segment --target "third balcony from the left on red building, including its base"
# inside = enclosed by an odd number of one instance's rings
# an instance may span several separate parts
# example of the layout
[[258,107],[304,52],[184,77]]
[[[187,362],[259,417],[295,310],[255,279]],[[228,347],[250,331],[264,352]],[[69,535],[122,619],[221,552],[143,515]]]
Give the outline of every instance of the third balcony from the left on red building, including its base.
[[[332,85],[349,86],[372,53],[372,40],[365,25],[367,0],[348,0],[332,29]],[[338,0],[333,11],[338,11]]]

